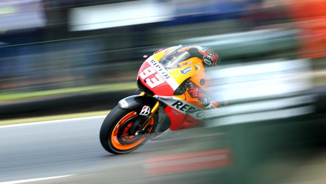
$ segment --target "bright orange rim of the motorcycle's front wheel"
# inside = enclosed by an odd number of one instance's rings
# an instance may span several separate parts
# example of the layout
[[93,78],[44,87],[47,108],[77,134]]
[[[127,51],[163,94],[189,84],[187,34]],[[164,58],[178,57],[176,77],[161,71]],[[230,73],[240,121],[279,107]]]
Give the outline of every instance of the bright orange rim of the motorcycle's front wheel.
[[[151,132],[152,128],[149,129],[148,133],[146,135],[143,135],[141,137],[137,137],[134,135],[126,135],[128,132],[128,129],[132,126],[135,119],[133,118],[137,117],[138,114],[135,111],[132,111],[128,114],[126,114],[123,118],[120,119],[120,121],[115,125],[112,134],[111,134],[111,143],[112,146],[119,150],[127,150],[136,147],[140,143],[142,143]],[[127,123],[127,124],[126,124]],[[148,125],[153,125],[154,119],[151,118],[148,120]],[[122,132],[124,136],[120,137],[119,140],[118,133]],[[123,143],[122,143],[122,141]]]

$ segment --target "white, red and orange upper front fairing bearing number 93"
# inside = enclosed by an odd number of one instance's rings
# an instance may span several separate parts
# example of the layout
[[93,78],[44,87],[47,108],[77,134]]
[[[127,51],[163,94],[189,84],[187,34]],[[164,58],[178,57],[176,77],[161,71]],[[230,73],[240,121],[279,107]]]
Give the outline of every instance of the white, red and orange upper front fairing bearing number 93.
[[[200,80],[205,78],[204,67],[200,58],[187,58],[185,56],[181,59],[176,58],[175,60],[171,60],[171,62],[167,59],[164,60],[165,58],[169,58],[167,57],[169,53],[178,48],[171,47],[158,52],[146,59],[141,65],[138,71],[138,83],[141,83],[146,89],[149,89],[153,95],[182,98],[180,94],[177,95],[175,92],[188,79],[193,84],[205,88],[205,85],[200,84]],[[187,94],[183,96],[190,101],[197,101],[196,99],[188,98],[189,96]]]

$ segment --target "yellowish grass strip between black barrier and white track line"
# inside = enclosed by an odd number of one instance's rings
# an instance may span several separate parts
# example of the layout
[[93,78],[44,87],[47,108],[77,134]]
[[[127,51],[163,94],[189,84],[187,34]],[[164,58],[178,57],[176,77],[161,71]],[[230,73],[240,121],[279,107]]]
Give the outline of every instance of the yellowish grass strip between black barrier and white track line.
[[33,118],[20,118],[20,119],[11,119],[11,120],[2,120],[0,121],[1,125],[13,125],[21,123],[32,123],[32,122],[42,122],[42,121],[51,121],[51,120],[63,120],[70,118],[82,118],[89,116],[100,116],[107,115],[110,111],[95,111],[95,112],[86,112],[86,113],[75,113],[75,114],[64,114],[64,115],[54,115],[54,116],[42,116],[42,117],[33,117]]

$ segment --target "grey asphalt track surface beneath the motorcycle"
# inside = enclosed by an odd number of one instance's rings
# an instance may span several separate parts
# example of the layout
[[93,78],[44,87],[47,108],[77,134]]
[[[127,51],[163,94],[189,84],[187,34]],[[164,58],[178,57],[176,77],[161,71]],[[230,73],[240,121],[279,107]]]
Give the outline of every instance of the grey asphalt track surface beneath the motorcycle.
[[[138,150],[112,155],[99,142],[104,117],[55,123],[0,126],[0,183],[71,175],[32,183],[198,183],[184,174],[148,175],[148,158],[211,147],[193,139],[148,141]],[[196,138],[203,142],[207,138]],[[214,138],[215,139],[215,138]],[[209,138],[212,140],[212,137]],[[210,170],[204,173],[213,174]],[[196,176],[197,177],[197,176]],[[188,179],[184,179],[188,178]],[[9,182],[12,181],[12,182]],[[201,179],[201,182],[205,179]],[[206,177],[211,182],[211,177]]]

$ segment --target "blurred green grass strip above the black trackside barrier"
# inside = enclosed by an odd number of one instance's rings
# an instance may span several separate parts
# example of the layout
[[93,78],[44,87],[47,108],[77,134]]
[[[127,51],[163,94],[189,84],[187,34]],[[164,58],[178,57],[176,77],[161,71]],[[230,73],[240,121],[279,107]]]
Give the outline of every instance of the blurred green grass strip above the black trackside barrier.
[[100,84],[100,85],[92,85],[92,86],[84,86],[84,87],[70,87],[70,88],[52,89],[52,90],[43,90],[43,91],[0,93],[0,103],[46,97],[46,96],[71,94],[71,93],[90,94],[90,93],[98,93],[98,92],[132,90],[136,88],[137,85],[135,82],[128,82],[128,83],[117,83],[117,84]]

